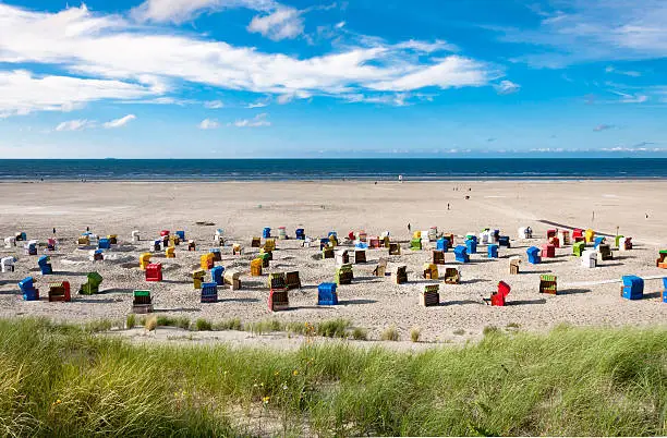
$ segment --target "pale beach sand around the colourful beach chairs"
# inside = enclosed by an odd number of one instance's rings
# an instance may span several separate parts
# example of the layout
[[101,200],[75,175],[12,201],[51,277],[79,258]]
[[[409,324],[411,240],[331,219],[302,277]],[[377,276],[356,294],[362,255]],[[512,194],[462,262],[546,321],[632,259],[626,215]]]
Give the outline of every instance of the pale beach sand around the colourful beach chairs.
[[[35,182],[2,183],[0,190],[2,238],[25,231],[28,239],[46,242],[56,228],[60,242],[58,251],[50,254],[54,275],[45,277],[37,270],[37,257],[25,255],[22,247],[0,250],[2,256],[19,258],[15,272],[0,275],[3,317],[124,319],[131,313],[132,291],[149,289],[159,314],[214,321],[238,317],[244,323],[271,317],[311,323],[342,317],[368,329],[371,338],[378,338],[391,325],[402,339],[409,339],[410,329],[419,327],[426,341],[463,341],[480,337],[487,326],[519,325],[520,329],[542,331],[561,323],[646,326],[667,321],[667,304],[658,295],[660,280],[645,282],[647,297],[642,301],[619,296],[623,275],[667,276],[666,270],[655,267],[658,250],[667,247],[664,181]],[[195,224],[207,221],[215,226]],[[585,269],[568,246],[557,250],[556,258],[533,266],[525,260],[526,247],[545,243],[546,230],[554,228],[541,221],[593,228],[610,235],[618,227],[621,234],[633,238],[634,250],[615,252],[614,260]],[[422,307],[420,291],[432,281],[422,279],[421,270],[430,259],[430,247],[408,250],[408,223],[413,231],[435,226],[458,236],[478,233],[486,227],[500,229],[512,239],[512,248],[501,247],[500,258],[489,260],[486,247],[481,245],[478,254],[471,256],[472,263],[461,266],[462,283],[439,282],[441,305]],[[268,272],[299,270],[303,284],[301,290],[290,292],[289,311],[268,312],[266,270],[260,278],[244,275],[240,291],[220,290],[216,304],[199,303],[199,291],[193,289],[190,273],[198,266],[199,256],[214,247],[217,228],[225,229],[228,245],[222,248],[221,265],[247,271],[250,259],[258,251],[250,248],[251,238],[259,236],[264,227],[277,234],[280,226],[287,227],[292,239],[278,241]],[[518,240],[517,229],[522,226],[532,227],[535,239]],[[99,235],[118,234],[121,245],[106,252],[105,261],[89,261],[88,251],[77,250],[75,244],[86,227]],[[317,284],[333,280],[335,261],[317,257],[318,247],[302,248],[301,242],[293,240],[295,228],[304,228],[311,236],[336,230],[341,238],[351,230],[363,229],[368,235],[388,230],[393,240],[403,242],[403,255],[389,257],[389,270],[398,264],[408,265],[410,282],[397,285],[389,276],[372,277],[375,263],[387,253],[368,251],[368,263],[354,265],[353,284],[339,287],[340,305],[318,307]],[[132,244],[135,229],[143,241]],[[138,255],[151,246],[162,229],[184,230],[186,239],[197,242],[197,251],[189,253],[180,245],[177,258],[156,254],[153,260],[162,263],[166,281],[148,283],[138,268]],[[243,245],[243,256],[231,255],[232,243]],[[463,239],[456,243],[462,244]],[[435,242],[430,245],[435,247]],[[509,275],[510,255],[523,259],[519,276]],[[451,260],[453,253],[449,252],[447,261]],[[46,301],[48,282],[69,280],[74,292],[93,270],[104,277],[102,293],[73,293],[72,303]],[[562,294],[541,295],[541,273],[556,275]],[[19,294],[16,282],[28,275],[38,281],[40,302],[24,302]],[[482,296],[488,297],[500,280],[512,288],[508,297],[512,305],[485,305]]]

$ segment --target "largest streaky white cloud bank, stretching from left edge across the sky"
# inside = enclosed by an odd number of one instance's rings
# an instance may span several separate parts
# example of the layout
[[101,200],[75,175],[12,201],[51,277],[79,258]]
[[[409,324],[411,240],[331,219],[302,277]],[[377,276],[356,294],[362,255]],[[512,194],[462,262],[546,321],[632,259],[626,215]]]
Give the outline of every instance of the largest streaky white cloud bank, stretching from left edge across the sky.
[[[392,46],[376,38],[369,47],[295,58],[161,27],[137,27],[117,15],[93,14],[85,7],[40,13],[0,3],[0,62],[50,64],[69,74],[102,78],[58,76],[66,87],[34,84],[37,80],[31,81],[29,73],[23,74],[27,80],[21,87],[0,78],[0,113],[62,109],[98,99],[158,102],[156,98],[172,99],[163,95],[183,82],[274,96],[341,96],[369,89],[483,86],[499,76],[481,61],[424,52],[445,47],[442,41],[433,47],[414,40]],[[275,37],[294,35],[271,25],[266,29]],[[417,50],[423,56],[414,56]],[[1,93],[5,89],[9,93]],[[46,102],[31,104],[32,99]]]

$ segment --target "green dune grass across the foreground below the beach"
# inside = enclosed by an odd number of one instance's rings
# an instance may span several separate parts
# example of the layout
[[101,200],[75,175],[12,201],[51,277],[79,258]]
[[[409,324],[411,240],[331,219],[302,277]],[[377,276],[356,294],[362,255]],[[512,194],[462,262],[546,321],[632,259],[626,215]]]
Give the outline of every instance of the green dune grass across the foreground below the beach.
[[667,330],[489,330],[423,353],[133,345],[0,320],[2,436],[665,435]]

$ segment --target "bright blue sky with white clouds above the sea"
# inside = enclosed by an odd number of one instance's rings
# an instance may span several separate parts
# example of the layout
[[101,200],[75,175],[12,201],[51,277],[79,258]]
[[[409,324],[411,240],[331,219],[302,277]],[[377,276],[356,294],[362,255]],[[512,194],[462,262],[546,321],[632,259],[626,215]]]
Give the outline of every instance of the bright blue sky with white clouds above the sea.
[[0,0],[7,158],[667,157],[664,0]]

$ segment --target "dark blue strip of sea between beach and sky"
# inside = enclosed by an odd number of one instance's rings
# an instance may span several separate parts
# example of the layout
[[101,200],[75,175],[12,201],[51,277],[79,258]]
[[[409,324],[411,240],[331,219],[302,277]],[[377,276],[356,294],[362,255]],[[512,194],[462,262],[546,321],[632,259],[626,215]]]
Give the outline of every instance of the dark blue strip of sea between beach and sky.
[[667,179],[667,158],[0,160],[0,181]]

